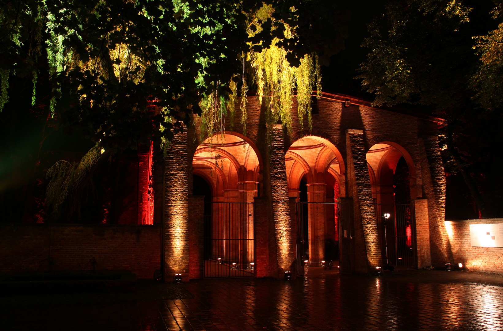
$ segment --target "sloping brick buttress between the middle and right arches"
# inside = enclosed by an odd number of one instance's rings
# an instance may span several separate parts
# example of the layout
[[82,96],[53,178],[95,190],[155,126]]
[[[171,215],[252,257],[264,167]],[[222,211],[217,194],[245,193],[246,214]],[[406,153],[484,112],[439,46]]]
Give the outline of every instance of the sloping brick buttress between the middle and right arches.
[[355,263],[357,273],[368,273],[381,264],[381,247],[375,220],[374,201],[363,130],[346,130],[348,195],[355,212]]

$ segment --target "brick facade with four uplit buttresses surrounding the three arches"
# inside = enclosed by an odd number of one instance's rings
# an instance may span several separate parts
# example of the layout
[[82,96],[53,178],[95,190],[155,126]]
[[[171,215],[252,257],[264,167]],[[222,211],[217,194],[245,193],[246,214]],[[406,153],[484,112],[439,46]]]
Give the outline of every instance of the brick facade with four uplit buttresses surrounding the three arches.
[[[241,112],[238,103],[236,106],[233,126],[227,118],[225,130],[240,135],[243,134],[239,123]],[[318,114],[312,116],[313,129],[309,131],[307,116],[301,126],[296,108],[294,99],[293,136],[282,136],[281,130],[277,130],[272,144],[268,145],[264,106],[255,97],[249,97],[246,105],[248,122],[245,136],[257,147],[258,156],[261,162],[263,160],[259,169],[260,197],[255,200],[254,212],[257,276],[279,276],[278,271],[290,269],[295,261],[295,226],[290,216],[284,156],[293,142],[308,135],[328,140],[342,155],[339,160],[343,165],[341,198],[351,197],[354,203],[352,265],[355,272],[367,273],[369,267],[381,264],[382,259],[366,160],[367,152],[377,143],[396,146],[409,165],[411,199],[415,201],[414,213],[420,221],[416,227],[418,264],[423,266],[444,261],[446,252],[449,252],[449,242],[442,235],[445,231],[445,173],[437,138],[425,136],[435,134],[437,124],[424,117],[356,104],[346,107],[340,101],[323,98],[318,101]],[[192,239],[188,239],[188,226],[184,220],[190,217],[187,194],[192,189],[192,156],[199,144],[192,134],[189,133],[189,137],[186,133],[177,135],[165,158],[166,273],[188,273],[189,270],[187,247]],[[422,198],[426,198],[427,202]],[[261,207],[257,209],[259,200]],[[190,260],[192,264],[192,253]],[[261,265],[263,263],[267,266]]]

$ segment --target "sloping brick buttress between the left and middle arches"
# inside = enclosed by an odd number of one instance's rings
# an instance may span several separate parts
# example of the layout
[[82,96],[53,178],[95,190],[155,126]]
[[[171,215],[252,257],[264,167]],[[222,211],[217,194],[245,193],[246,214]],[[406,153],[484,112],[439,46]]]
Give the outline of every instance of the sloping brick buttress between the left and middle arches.
[[[288,182],[285,163],[285,149],[281,132],[274,132],[270,146],[270,174],[274,226],[280,274],[294,271],[295,261],[295,227],[290,222],[290,205],[288,200]],[[279,276],[281,277],[281,276]]]

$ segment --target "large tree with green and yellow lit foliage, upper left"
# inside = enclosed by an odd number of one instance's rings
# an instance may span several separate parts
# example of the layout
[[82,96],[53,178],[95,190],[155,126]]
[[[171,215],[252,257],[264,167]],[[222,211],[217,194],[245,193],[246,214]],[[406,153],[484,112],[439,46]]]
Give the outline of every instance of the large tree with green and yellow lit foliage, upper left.
[[[110,153],[150,141],[165,148],[184,124],[191,125],[192,114],[206,116],[208,131],[214,131],[215,119],[226,111],[221,104],[233,106],[237,85],[245,93],[246,78],[253,76],[243,72],[245,54],[280,47],[290,67],[318,55],[326,63],[345,36],[337,6],[322,0],[30,0],[4,3],[0,18],[0,108],[13,76],[31,79],[34,104],[46,100],[60,127],[79,129],[96,143],[80,162],[90,164],[58,168],[76,179],[89,178],[93,164]],[[39,77],[50,86],[46,96],[37,92]],[[304,94],[310,95],[313,79],[307,81]],[[291,98],[293,88],[286,95]],[[209,98],[217,102],[205,103]],[[152,114],[149,105],[158,111]],[[54,179],[63,180],[61,174],[52,172]],[[61,193],[48,201],[62,199]]]

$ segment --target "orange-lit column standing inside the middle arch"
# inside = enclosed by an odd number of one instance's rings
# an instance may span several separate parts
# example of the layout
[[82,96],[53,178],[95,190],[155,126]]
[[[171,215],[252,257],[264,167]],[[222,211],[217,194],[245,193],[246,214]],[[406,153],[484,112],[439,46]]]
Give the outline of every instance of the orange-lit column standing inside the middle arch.
[[[307,184],[308,202],[326,201],[326,184]],[[325,255],[325,222],[324,204],[308,204],[309,208],[309,262],[312,267],[320,267]]]

